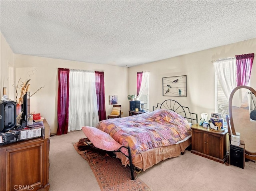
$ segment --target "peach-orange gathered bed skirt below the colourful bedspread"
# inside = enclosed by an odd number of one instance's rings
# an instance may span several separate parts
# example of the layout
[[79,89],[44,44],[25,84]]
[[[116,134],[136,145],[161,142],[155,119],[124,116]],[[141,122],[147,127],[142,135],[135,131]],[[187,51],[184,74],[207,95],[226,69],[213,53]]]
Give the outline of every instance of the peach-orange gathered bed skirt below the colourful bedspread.
[[[188,146],[190,146],[190,144],[191,144],[191,137],[180,144],[154,148],[145,152],[141,152],[140,154],[132,158],[132,164],[135,167],[142,169],[144,171],[152,167],[153,165],[159,163],[160,161],[163,161],[168,158],[180,156],[181,152],[184,152],[185,149]],[[123,165],[126,166],[129,164],[129,159],[126,156],[124,156],[122,153],[117,152],[116,157],[121,160]]]

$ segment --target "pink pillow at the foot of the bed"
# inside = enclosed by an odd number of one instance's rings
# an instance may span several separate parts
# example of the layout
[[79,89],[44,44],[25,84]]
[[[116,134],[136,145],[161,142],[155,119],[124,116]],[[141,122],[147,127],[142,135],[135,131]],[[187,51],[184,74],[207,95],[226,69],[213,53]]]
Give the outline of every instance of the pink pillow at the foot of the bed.
[[115,151],[122,145],[116,142],[109,134],[95,127],[84,126],[82,130],[92,144],[102,150]]

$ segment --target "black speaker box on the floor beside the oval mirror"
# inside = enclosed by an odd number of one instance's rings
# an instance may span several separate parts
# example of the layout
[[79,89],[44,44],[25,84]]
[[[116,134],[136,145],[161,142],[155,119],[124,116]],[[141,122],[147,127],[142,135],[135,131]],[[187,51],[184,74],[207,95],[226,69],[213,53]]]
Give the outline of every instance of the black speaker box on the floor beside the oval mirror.
[[230,164],[244,169],[245,152],[244,145],[230,145]]

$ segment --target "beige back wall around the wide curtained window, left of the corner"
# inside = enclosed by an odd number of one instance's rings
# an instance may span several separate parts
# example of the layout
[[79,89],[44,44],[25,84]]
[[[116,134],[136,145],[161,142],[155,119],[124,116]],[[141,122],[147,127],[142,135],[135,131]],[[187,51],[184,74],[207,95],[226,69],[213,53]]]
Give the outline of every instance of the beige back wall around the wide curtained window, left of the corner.
[[122,105],[122,116],[128,116],[128,68],[111,65],[91,64],[77,61],[36,57],[14,54],[16,81],[31,78],[30,94],[39,90],[30,98],[31,112],[40,112],[51,126],[51,133],[56,133],[58,68],[104,71],[106,114],[110,114],[109,95],[118,95],[118,104]]

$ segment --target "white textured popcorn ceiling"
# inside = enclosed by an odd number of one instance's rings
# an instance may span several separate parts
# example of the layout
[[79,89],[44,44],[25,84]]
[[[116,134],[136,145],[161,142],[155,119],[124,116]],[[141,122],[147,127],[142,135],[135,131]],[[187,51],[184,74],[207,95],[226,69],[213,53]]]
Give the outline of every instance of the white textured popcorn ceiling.
[[133,66],[256,37],[256,1],[0,1],[18,54]]

